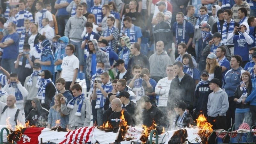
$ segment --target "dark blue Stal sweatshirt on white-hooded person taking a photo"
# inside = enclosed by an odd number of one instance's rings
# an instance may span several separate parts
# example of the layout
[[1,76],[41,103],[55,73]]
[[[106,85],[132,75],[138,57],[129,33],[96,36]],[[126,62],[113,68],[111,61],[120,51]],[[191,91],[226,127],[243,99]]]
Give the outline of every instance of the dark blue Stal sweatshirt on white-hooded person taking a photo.
[[[249,35],[249,36],[254,40],[254,37],[252,35]],[[243,61],[249,61],[248,52],[249,52],[249,49],[251,48],[251,45],[246,43],[245,37],[235,35],[233,37],[233,44],[235,44],[234,55],[235,54],[240,55]]]

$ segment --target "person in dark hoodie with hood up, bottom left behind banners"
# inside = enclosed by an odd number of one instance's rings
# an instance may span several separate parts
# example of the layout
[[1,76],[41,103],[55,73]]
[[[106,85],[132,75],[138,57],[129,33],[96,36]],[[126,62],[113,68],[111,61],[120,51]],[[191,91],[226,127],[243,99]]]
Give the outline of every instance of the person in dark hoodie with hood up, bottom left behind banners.
[[29,112],[26,121],[29,122],[30,126],[46,127],[49,111],[41,106],[38,98],[33,98],[30,103],[33,109]]

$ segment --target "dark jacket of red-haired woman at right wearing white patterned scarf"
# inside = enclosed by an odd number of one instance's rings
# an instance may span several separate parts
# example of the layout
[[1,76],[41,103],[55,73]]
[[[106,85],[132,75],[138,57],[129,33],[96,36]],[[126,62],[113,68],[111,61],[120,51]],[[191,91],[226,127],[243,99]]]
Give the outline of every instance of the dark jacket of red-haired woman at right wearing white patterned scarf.
[[[252,87],[248,87],[246,89],[247,95],[249,96],[252,93]],[[236,91],[234,92],[234,99],[239,99],[242,96],[243,92],[240,90],[240,85],[236,87]],[[236,102],[236,108],[250,108],[250,103],[242,104]]]

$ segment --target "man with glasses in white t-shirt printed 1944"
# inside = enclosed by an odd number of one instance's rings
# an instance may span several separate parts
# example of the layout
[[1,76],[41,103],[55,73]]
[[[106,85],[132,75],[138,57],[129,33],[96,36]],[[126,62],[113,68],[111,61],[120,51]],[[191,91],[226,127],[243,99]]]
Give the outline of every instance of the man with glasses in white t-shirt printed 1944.
[[75,46],[73,44],[68,44],[65,48],[65,52],[67,56],[62,60],[60,77],[64,78],[66,81],[65,89],[71,90],[71,87],[76,83],[79,60],[74,55]]

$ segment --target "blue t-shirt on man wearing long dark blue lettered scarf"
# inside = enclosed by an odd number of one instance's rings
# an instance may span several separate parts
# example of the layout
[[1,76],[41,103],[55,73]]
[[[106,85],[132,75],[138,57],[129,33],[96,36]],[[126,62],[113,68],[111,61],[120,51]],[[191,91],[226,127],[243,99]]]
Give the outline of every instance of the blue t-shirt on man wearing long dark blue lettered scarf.
[[[176,36],[176,28],[177,28],[177,22],[174,22],[172,26],[172,31],[173,31],[173,36]],[[193,25],[189,22],[186,21],[186,26],[185,26],[185,43],[188,43],[188,40],[190,38],[190,35],[194,33],[194,27]],[[178,44],[180,44],[180,41],[183,36],[183,23],[178,24]]]

